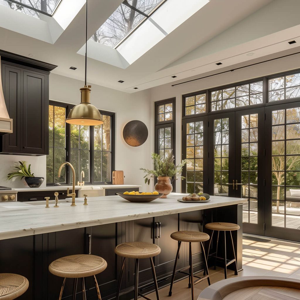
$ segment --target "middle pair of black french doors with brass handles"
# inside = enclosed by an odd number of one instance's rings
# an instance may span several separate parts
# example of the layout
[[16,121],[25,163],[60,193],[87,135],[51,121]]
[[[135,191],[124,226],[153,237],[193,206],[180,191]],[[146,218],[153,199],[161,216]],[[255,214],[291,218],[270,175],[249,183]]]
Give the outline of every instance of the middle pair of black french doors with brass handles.
[[212,115],[208,119],[208,190],[247,199],[243,232],[264,231],[264,108]]

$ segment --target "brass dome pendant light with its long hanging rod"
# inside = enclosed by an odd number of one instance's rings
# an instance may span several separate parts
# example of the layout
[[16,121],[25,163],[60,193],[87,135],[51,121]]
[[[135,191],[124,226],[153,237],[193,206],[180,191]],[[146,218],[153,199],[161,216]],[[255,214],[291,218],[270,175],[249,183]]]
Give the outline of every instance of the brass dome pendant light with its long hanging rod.
[[66,123],[74,125],[101,125],[102,116],[94,105],[90,104],[91,85],[86,85],[86,52],[88,43],[88,0],[86,0],[85,12],[85,84],[84,88],[80,88],[81,103],[75,105],[70,111]]

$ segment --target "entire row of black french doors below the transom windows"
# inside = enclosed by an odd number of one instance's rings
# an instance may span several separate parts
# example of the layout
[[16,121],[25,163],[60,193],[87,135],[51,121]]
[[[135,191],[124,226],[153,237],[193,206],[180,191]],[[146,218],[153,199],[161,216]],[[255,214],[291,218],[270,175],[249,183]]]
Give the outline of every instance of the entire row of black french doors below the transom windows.
[[244,233],[300,241],[299,101],[182,125],[182,192],[247,199]]

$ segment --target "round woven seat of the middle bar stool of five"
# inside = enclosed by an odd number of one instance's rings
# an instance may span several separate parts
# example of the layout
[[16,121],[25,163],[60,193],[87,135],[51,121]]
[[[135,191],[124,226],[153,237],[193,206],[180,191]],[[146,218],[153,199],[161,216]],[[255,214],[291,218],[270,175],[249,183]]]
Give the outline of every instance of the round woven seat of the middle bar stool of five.
[[147,242],[127,242],[119,244],[115,253],[128,258],[149,258],[161,253],[161,248]]

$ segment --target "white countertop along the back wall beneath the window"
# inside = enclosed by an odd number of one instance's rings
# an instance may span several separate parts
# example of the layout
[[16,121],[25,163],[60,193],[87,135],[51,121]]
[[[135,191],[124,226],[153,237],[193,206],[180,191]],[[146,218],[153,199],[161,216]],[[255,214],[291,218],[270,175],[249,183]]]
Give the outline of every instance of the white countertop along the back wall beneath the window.
[[[103,189],[118,189],[118,188],[140,188],[141,185],[132,185],[132,184],[95,184],[95,185],[83,185],[75,186],[75,190],[80,190],[83,188],[99,188],[102,187]],[[57,186],[48,186],[48,187],[16,187],[12,188],[12,190],[15,190],[17,192],[38,192],[38,191],[47,191],[47,190],[66,190],[69,188],[72,190],[72,186],[66,186],[66,185],[57,185]]]

